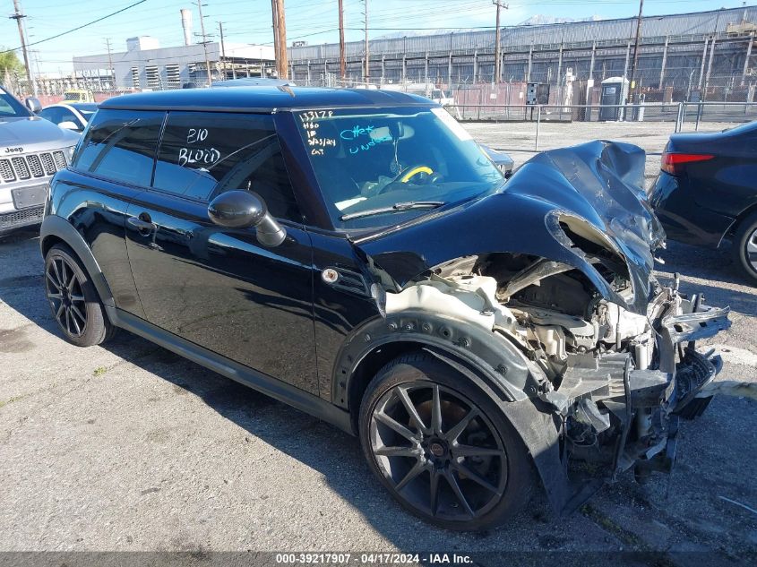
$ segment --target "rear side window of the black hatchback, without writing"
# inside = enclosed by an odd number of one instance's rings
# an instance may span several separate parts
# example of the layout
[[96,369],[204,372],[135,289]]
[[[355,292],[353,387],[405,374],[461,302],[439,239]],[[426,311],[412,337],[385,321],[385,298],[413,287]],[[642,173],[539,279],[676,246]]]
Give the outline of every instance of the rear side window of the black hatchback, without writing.
[[76,150],[73,168],[149,187],[164,116],[162,112],[100,110]]

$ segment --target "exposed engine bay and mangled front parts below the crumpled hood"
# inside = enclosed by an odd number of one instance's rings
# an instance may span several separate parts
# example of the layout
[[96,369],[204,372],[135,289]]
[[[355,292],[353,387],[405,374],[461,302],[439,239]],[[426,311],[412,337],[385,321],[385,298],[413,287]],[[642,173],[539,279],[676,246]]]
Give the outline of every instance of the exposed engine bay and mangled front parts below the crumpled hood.
[[[609,263],[609,262],[608,262]],[[622,264],[620,264],[622,266]],[[615,267],[615,266],[614,266]],[[621,268],[603,276],[620,297],[631,284]],[[464,319],[515,345],[541,370],[536,392],[563,420],[561,452],[580,474],[640,481],[669,472],[679,417],[701,414],[697,398],[721,368],[694,340],[727,328],[727,309],[651,282],[646,315],[598,293],[578,270],[527,254],[490,253],[438,266],[399,294],[387,314],[432,310]]]

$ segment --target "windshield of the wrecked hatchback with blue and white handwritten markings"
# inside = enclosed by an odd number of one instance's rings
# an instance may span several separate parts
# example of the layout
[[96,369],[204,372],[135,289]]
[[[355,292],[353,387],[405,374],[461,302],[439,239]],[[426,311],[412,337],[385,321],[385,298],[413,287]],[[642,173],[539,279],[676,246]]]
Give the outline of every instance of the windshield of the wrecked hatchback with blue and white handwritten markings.
[[297,113],[337,228],[376,228],[493,191],[503,174],[443,108]]

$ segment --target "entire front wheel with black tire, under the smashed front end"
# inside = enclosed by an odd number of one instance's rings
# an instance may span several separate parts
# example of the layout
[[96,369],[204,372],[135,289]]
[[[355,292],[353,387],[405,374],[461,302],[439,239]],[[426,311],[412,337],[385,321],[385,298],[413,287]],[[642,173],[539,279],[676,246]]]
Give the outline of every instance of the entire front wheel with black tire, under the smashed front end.
[[502,524],[535,484],[528,452],[503,411],[426,353],[398,357],[375,375],[358,429],[369,467],[394,499],[441,528]]

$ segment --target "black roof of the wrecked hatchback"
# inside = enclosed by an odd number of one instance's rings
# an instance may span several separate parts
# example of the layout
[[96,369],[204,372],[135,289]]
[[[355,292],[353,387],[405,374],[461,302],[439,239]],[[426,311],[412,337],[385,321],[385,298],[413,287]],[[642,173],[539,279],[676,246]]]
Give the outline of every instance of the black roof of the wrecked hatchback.
[[303,108],[435,106],[417,95],[394,90],[315,87],[239,87],[140,92],[114,97],[100,108],[128,110],[207,110],[275,112]]

